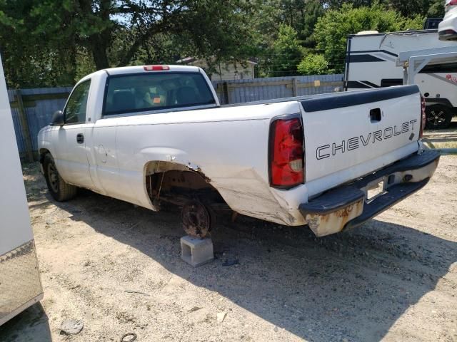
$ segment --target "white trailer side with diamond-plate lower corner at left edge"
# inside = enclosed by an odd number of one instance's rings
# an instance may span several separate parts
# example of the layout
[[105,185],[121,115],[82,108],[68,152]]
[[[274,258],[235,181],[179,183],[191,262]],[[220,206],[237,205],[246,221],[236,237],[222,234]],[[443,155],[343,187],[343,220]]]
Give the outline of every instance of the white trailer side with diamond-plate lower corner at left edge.
[[43,298],[29,207],[0,59],[0,326]]

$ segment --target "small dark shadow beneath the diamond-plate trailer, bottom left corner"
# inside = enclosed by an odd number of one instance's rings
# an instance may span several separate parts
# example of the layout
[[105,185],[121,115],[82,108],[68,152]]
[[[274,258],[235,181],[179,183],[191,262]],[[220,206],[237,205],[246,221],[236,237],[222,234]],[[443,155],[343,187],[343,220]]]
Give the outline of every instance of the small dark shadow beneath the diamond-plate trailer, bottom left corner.
[[34,304],[0,326],[0,341],[52,341],[48,316],[43,306]]

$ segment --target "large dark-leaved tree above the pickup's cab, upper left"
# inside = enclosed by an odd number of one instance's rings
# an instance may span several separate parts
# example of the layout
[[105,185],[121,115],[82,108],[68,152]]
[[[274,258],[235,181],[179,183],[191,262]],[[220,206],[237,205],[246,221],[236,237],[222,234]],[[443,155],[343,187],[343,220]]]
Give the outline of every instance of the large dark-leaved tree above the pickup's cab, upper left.
[[[247,0],[1,0],[0,38],[16,35],[3,52],[21,69],[39,65],[46,75],[65,76],[56,83],[71,84],[84,69],[174,62],[186,53],[244,58],[253,45],[252,9]],[[12,78],[19,86],[30,84],[23,76]]]

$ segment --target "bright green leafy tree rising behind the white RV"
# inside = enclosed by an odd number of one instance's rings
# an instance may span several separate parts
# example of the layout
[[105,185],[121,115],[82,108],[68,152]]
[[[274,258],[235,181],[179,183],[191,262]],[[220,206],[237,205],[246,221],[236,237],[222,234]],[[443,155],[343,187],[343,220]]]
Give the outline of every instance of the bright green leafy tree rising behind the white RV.
[[380,4],[357,9],[351,4],[343,4],[341,9],[328,10],[318,19],[314,35],[318,51],[323,53],[331,68],[341,73],[344,69],[346,39],[349,34],[368,30],[392,32],[421,28],[422,21],[421,17],[406,19]]

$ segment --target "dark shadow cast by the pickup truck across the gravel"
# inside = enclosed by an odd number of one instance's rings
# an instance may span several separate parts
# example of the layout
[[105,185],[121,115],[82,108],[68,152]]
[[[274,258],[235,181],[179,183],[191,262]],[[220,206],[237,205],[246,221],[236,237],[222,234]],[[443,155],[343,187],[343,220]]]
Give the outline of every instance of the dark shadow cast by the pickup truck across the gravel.
[[[241,217],[236,224],[219,223],[216,260],[193,269],[180,258],[178,212],[152,213],[91,192],[54,204],[308,341],[380,341],[457,261],[456,243],[398,224],[372,220],[316,239],[306,228]],[[223,266],[227,259],[239,264]]]

